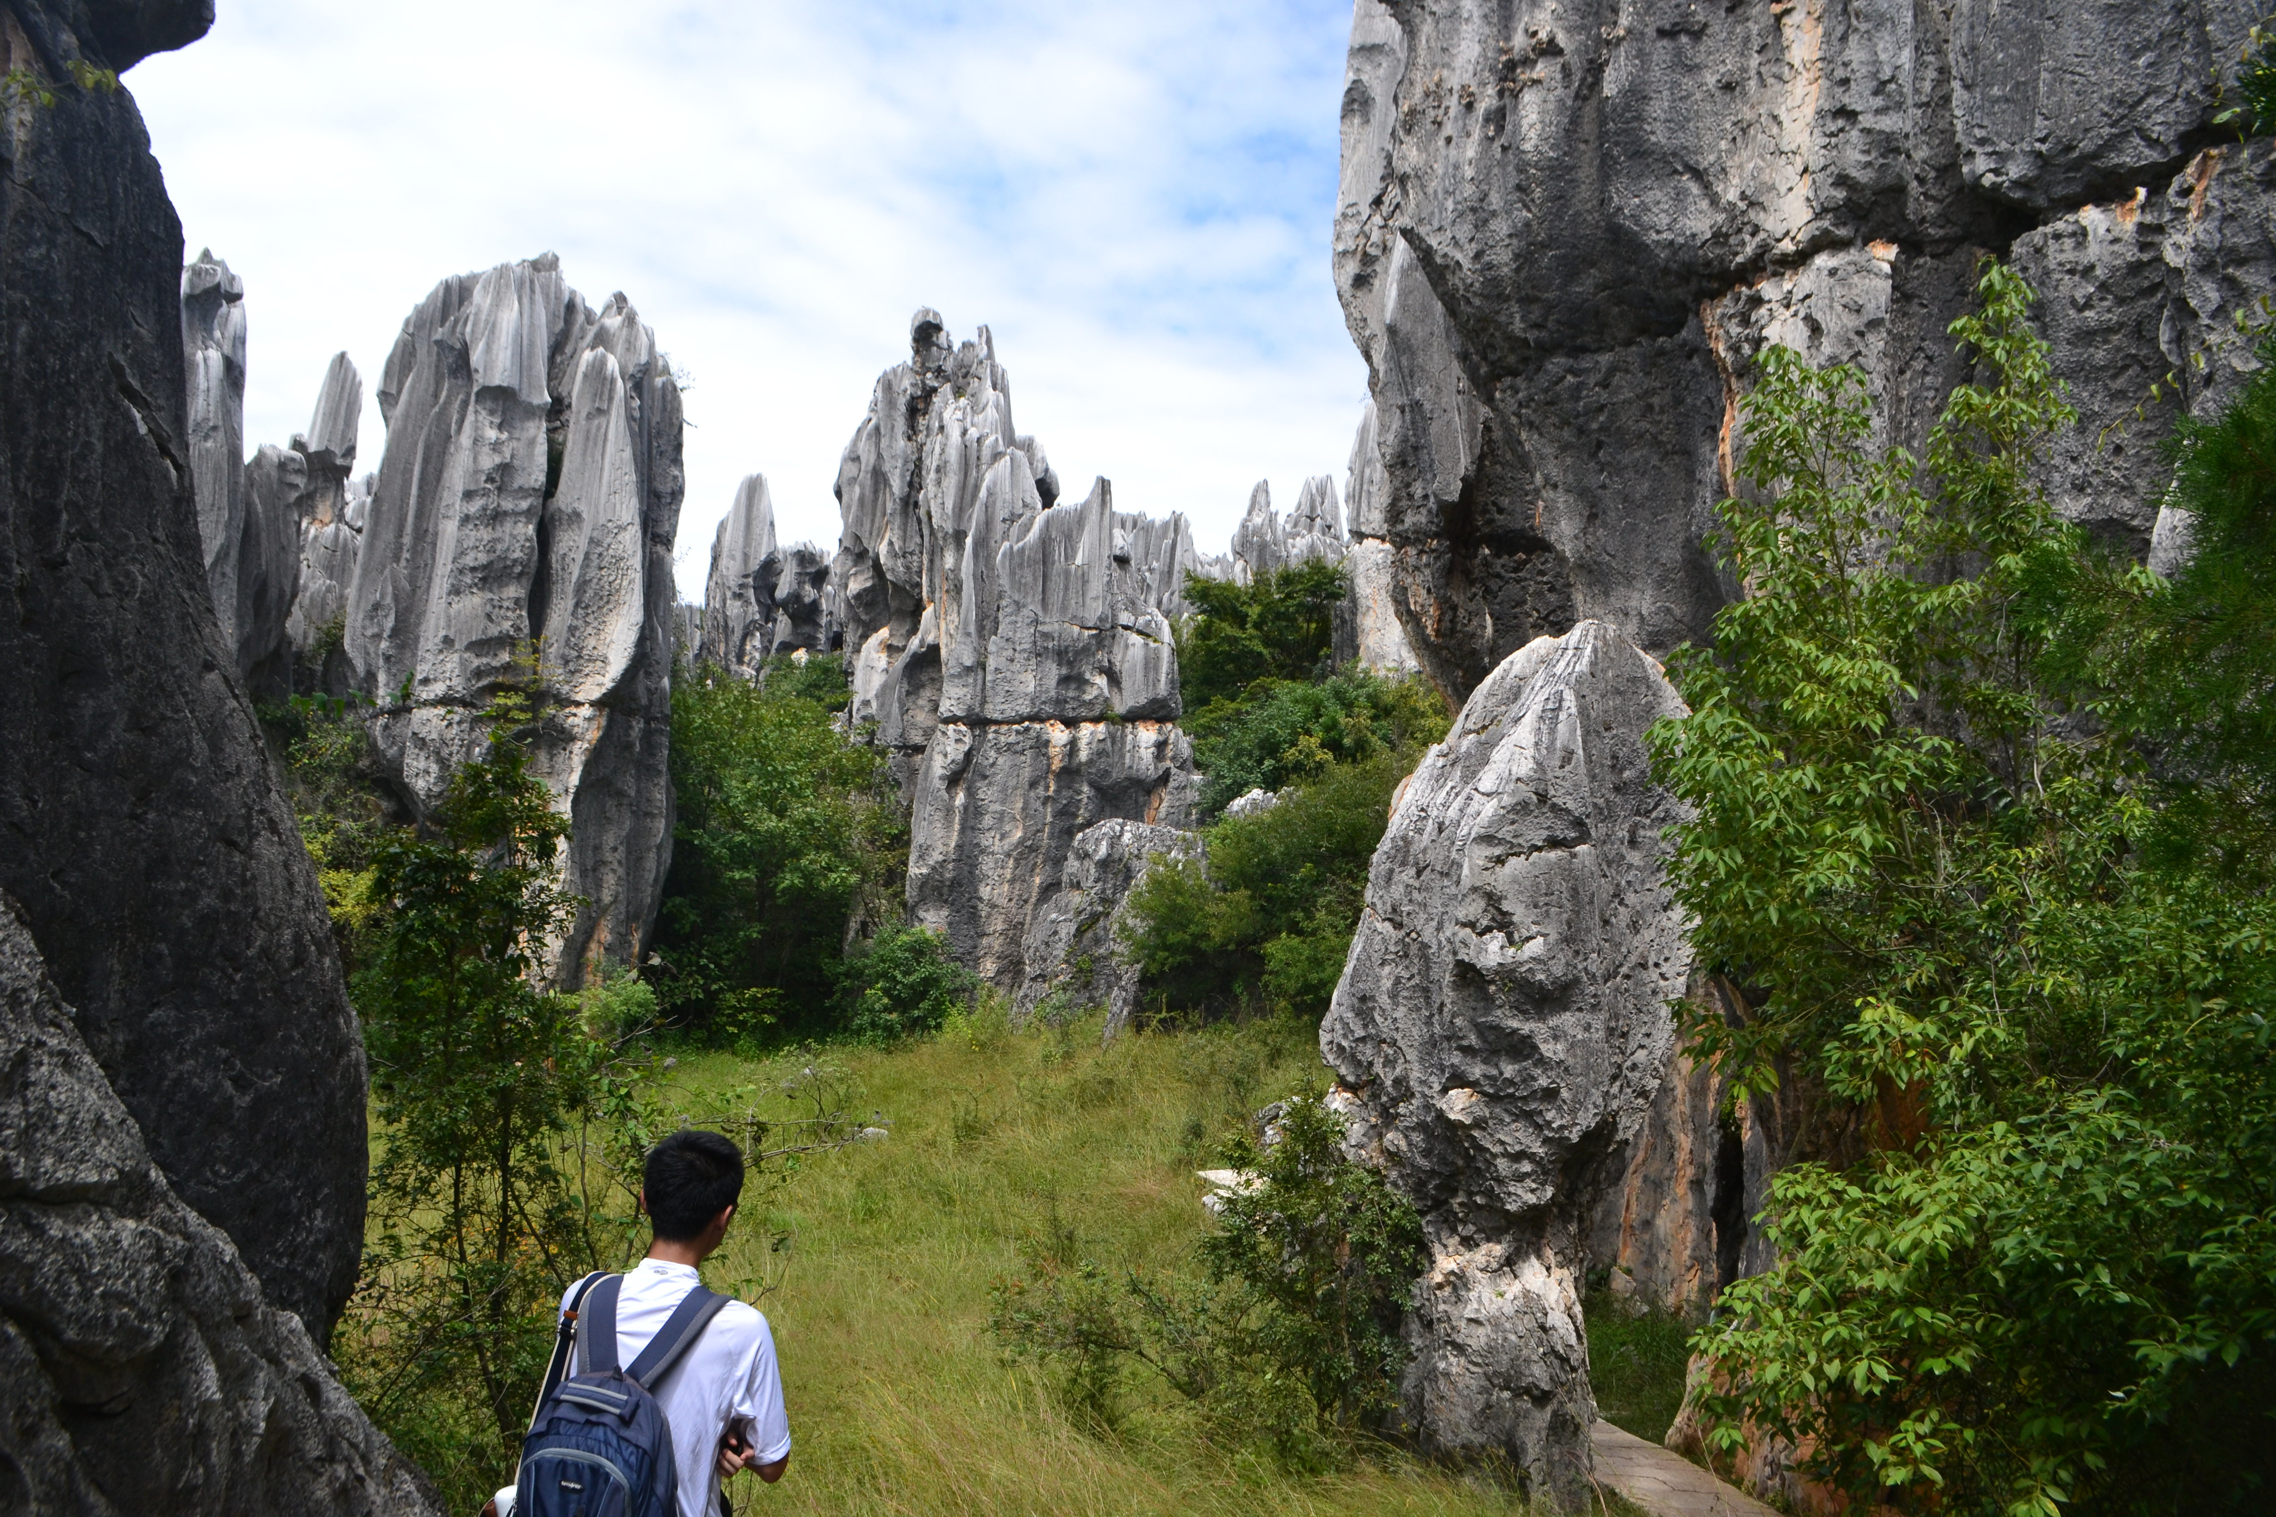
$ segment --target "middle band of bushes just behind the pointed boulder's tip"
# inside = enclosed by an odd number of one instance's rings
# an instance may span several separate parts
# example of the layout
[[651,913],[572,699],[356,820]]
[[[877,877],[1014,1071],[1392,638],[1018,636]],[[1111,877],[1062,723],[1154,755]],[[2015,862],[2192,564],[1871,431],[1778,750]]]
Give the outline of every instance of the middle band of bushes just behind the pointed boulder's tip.
[[1311,685],[1256,680],[1186,721],[1204,816],[1252,789],[1318,780],[1336,764],[1420,753],[1445,728],[1445,698],[1436,689],[1356,664]]

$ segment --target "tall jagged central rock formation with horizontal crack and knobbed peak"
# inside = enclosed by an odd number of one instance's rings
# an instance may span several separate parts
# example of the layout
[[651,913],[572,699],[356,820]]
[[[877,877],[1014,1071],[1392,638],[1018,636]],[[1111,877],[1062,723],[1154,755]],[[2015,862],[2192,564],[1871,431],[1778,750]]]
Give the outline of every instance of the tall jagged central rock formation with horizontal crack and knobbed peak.
[[1074,837],[1190,814],[1168,605],[1193,544],[1181,519],[1115,512],[1106,480],[1058,503],[988,328],[954,346],[920,309],[910,350],[838,466],[853,719],[910,803],[910,917],[1017,992]]

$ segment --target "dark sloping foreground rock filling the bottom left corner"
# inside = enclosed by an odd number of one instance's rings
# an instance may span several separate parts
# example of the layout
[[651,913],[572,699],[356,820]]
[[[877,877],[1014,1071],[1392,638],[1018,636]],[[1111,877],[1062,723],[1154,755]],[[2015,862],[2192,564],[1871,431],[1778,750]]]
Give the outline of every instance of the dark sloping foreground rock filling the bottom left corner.
[[0,894],[0,1499],[20,1517],[439,1512],[150,1162]]

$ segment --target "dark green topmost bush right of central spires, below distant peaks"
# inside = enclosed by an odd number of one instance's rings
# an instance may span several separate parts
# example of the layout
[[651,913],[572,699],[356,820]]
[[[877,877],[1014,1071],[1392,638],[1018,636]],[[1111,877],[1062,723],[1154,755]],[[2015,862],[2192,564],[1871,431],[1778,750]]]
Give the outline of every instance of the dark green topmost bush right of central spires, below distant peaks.
[[1250,585],[1186,575],[1193,614],[1177,628],[1186,710],[1206,710],[1256,680],[1325,675],[1343,594],[1343,569],[1318,559],[1261,573]]

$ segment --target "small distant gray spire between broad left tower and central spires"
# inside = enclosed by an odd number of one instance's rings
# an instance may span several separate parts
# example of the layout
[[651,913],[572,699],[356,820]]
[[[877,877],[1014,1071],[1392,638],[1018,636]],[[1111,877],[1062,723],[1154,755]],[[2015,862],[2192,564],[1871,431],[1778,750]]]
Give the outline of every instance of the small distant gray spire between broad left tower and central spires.
[[753,680],[778,653],[835,653],[835,612],[831,559],[813,544],[778,548],[767,475],[744,478],[712,537],[699,657]]

